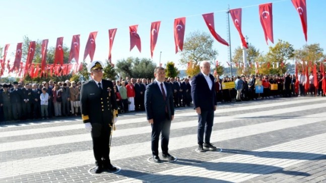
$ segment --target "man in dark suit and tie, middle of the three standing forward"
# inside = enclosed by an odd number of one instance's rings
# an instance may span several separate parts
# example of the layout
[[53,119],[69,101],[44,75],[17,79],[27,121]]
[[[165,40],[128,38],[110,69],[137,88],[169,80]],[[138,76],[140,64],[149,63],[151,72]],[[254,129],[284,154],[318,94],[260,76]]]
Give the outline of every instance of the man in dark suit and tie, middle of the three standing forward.
[[171,121],[174,118],[173,94],[170,84],[165,83],[165,71],[162,67],[154,70],[155,80],[146,86],[145,110],[148,123],[152,126],[152,154],[154,162],[161,162],[158,156],[160,133],[162,156],[168,160],[175,158],[168,153]]

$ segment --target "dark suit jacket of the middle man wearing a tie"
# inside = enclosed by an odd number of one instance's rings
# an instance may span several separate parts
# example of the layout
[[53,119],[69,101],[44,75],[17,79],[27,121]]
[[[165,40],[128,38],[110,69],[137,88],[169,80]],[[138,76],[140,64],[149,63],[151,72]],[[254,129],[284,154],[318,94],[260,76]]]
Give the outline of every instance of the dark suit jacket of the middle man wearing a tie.
[[161,87],[156,81],[146,86],[145,90],[145,110],[147,119],[153,119],[154,123],[166,119],[165,105],[167,106],[168,115],[174,115],[173,93],[171,86],[164,82],[166,88],[166,99],[163,99]]

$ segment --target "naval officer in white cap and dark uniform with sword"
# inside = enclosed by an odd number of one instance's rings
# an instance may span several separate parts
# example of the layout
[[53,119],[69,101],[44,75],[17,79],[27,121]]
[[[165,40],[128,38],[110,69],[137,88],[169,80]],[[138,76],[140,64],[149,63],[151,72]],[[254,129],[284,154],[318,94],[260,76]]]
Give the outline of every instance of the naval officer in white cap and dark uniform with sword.
[[85,128],[91,131],[95,157],[95,173],[104,169],[116,170],[109,158],[110,136],[113,115],[117,115],[117,104],[113,93],[113,83],[103,78],[104,65],[100,61],[88,66],[92,80],[81,88],[81,112]]

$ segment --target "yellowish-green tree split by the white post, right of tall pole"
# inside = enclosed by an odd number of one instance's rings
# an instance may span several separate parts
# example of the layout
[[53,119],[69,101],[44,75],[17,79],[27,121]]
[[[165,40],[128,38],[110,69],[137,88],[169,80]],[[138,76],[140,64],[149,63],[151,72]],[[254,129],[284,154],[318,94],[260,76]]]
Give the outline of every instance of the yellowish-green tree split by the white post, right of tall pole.
[[[254,73],[254,64],[256,62],[257,57],[259,56],[259,49],[256,49],[252,44],[248,45],[247,49],[247,66],[246,71],[243,72],[241,68],[237,69],[237,74],[249,74]],[[235,48],[233,52],[232,62],[237,63],[238,67],[240,66],[239,63],[243,63],[243,53],[240,46]]]

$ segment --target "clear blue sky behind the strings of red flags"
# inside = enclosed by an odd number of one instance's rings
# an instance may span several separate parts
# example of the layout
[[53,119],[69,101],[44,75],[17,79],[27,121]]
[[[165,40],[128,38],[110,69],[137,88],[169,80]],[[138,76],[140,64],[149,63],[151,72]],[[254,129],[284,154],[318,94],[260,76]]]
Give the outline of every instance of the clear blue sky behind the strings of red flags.
[[[215,29],[227,40],[225,10],[242,8],[242,33],[248,37],[248,42],[266,53],[264,32],[258,17],[258,5],[273,3],[274,42],[278,39],[290,42],[295,49],[306,44],[298,13],[290,0],[165,0],[165,1],[2,1],[0,14],[0,46],[10,43],[9,52],[15,52],[18,42],[27,35],[31,40],[49,39],[48,46],[55,46],[56,38],[63,36],[63,43],[70,47],[72,36],[81,35],[80,60],[83,58],[86,41],[90,32],[98,31],[94,60],[105,60],[108,57],[108,29],[117,28],[113,48],[112,62],[129,56],[150,57],[150,26],[151,22],[161,21],[158,41],[153,60],[159,63],[173,61],[176,66],[180,58],[175,54],[173,22],[175,18],[186,17],[185,37],[193,31],[209,32],[202,14],[214,12]],[[320,43],[326,48],[326,24],[324,0],[306,0],[308,22],[308,44]],[[231,16],[230,16],[231,19]],[[232,22],[230,22],[231,49],[240,45],[241,41]],[[142,53],[135,47],[129,51],[129,26],[138,24],[138,34],[142,41]],[[218,50],[217,59],[227,66],[228,47],[215,41],[214,48]],[[11,57],[9,57],[11,58]],[[12,63],[14,58],[11,58]],[[87,62],[90,61],[88,57]]]

